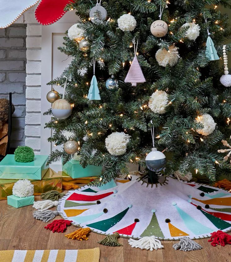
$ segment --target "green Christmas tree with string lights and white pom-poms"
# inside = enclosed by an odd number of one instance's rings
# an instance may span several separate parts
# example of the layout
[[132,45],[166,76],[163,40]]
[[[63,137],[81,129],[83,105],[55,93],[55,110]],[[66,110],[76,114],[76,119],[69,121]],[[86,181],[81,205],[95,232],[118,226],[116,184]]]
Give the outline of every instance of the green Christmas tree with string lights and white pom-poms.
[[[46,124],[54,131],[49,141],[63,146],[69,140],[63,132],[72,132],[80,163],[104,166],[95,183],[106,183],[129,174],[129,163],[146,166],[152,121],[155,147],[170,155],[164,174],[195,170],[211,181],[227,175],[230,164],[217,149],[231,135],[231,89],[221,84],[223,69],[214,59],[223,56],[231,31],[219,5],[231,6],[228,0],[75,0],[66,6],[81,20],[59,48],[73,60],[48,84],[63,85],[67,77],[65,99],[74,108],[69,118]],[[134,81],[124,81],[128,71]],[[93,75],[101,100],[87,98]],[[56,149],[49,163],[72,157]]]

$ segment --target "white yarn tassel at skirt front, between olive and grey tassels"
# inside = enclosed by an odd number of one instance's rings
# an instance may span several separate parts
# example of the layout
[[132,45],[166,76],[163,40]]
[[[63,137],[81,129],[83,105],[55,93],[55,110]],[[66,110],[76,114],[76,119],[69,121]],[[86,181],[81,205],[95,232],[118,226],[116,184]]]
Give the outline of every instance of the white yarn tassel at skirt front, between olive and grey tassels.
[[151,237],[142,237],[139,240],[135,240],[130,238],[128,240],[129,245],[132,246],[132,248],[140,248],[140,249],[150,249],[152,251],[153,249],[161,249],[164,246],[162,246],[161,242],[159,239],[156,239],[155,236]]

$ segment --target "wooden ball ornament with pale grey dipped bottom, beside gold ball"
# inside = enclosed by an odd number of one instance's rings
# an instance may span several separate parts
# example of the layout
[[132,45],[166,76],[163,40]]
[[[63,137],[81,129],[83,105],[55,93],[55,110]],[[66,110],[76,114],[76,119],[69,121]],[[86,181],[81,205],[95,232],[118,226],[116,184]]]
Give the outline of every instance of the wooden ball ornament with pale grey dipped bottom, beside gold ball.
[[52,114],[58,119],[66,119],[70,116],[72,105],[66,99],[58,99],[52,104]]

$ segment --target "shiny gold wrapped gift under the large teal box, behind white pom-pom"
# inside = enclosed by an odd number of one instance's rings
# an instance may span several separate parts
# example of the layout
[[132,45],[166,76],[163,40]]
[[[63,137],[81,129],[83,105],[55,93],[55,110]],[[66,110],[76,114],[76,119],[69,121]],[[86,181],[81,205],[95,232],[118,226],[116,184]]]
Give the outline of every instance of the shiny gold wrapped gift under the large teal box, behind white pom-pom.
[[[7,199],[12,195],[12,188],[18,179],[0,179],[0,200]],[[34,195],[38,196],[50,190],[62,192],[62,175],[56,173],[51,168],[43,176],[42,180],[30,180],[34,185]]]

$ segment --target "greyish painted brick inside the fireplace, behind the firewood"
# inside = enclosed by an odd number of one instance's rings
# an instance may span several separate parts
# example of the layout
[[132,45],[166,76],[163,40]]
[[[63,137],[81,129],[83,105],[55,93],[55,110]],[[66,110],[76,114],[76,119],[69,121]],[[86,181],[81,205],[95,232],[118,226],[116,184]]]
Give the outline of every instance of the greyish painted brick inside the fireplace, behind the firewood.
[[0,98],[12,92],[15,106],[11,147],[25,144],[26,25],[0,29]]

